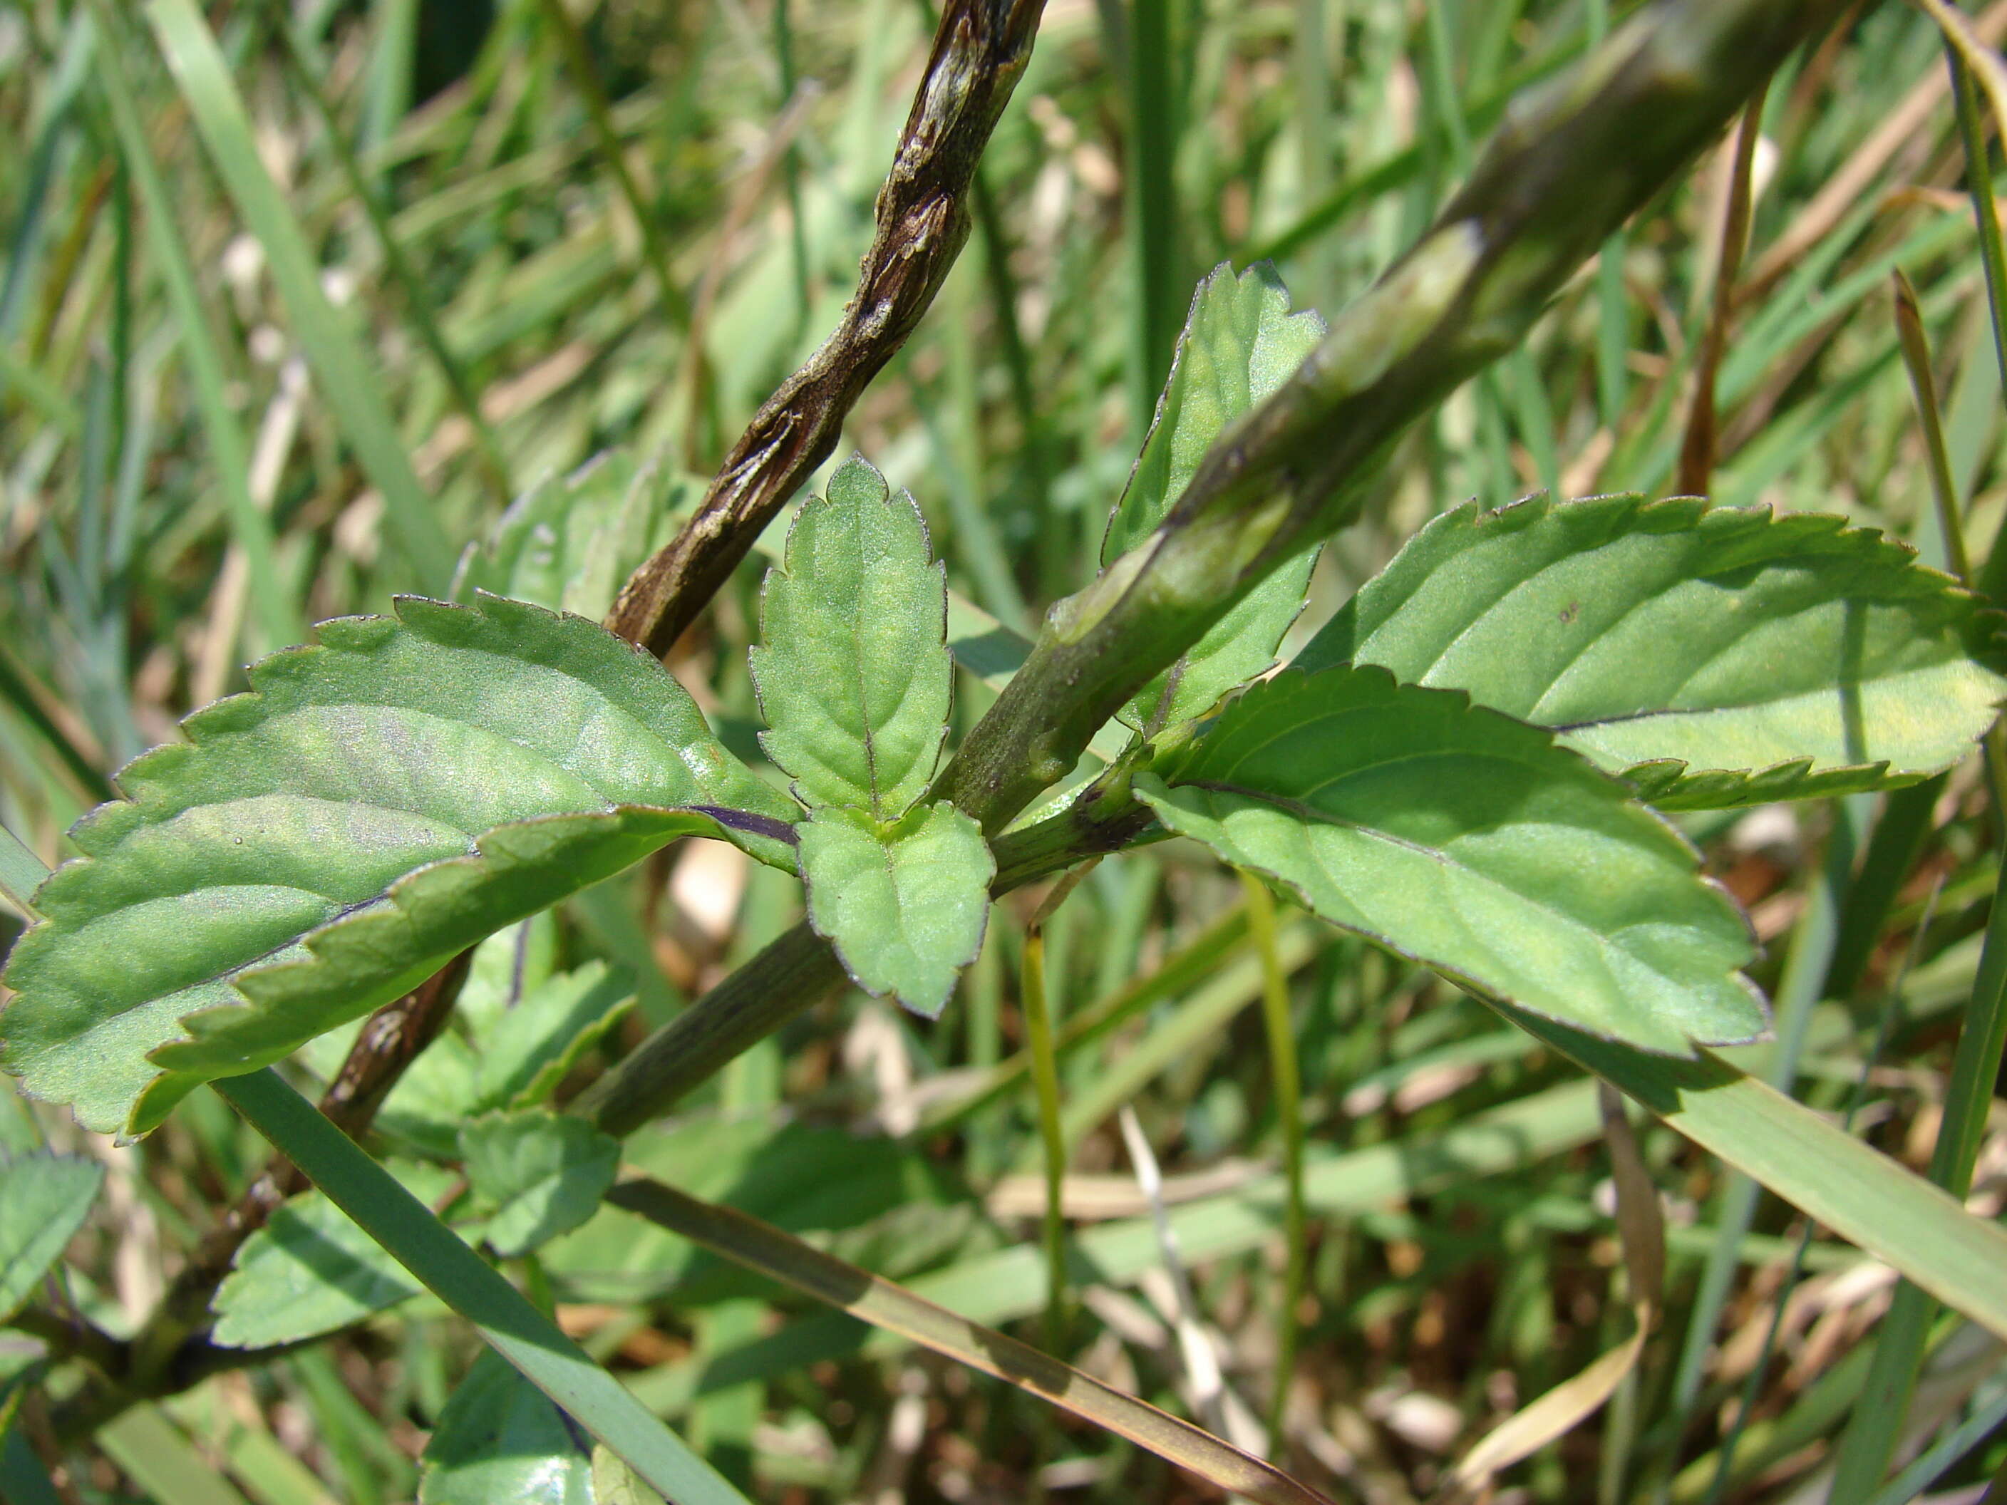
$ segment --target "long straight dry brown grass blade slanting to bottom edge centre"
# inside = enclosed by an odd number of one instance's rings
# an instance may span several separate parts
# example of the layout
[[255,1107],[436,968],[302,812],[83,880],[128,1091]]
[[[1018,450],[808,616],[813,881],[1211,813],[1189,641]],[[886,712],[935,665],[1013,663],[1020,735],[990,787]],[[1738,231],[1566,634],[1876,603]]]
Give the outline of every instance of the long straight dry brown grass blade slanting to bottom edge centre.
[[1232,1443],[1102,1385],[1030,1344],[955,1316],[891,1280],[809,1248],[759,1218],[698,1202],[652,1180],[620,1182],[606,1200],[682,1234],[712,1254],[839,1306],[871,1326],[897,1332],[923,1348],[1050,1401],[1232,1495],[1260,1505],[1331,1505],[1325,1495]]

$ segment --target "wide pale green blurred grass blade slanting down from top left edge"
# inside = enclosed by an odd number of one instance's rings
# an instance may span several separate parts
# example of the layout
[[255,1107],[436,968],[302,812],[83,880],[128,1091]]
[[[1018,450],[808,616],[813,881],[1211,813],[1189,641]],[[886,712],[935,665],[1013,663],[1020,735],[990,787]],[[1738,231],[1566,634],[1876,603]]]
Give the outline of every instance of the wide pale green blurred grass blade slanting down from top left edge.
[[375,379],[353,329],[321,291],[319,263],[285,195],[265,171],[251,116],[237,94],[237,84],[231,82],[229,64],[217,50],[209,22],[195,0],[151,0],[147,20],[175,82],[181,84],[195,128],[209,146],[209,159],[265,249],[265,263],[319,379],[321,397],[355,447],[369,482],[383,496],[383,518],[405,564],[421,590],[444,596],[454,578],[456,550],[419,486],[417,472],[411,470],[411,456],[397,437],[381,381]]

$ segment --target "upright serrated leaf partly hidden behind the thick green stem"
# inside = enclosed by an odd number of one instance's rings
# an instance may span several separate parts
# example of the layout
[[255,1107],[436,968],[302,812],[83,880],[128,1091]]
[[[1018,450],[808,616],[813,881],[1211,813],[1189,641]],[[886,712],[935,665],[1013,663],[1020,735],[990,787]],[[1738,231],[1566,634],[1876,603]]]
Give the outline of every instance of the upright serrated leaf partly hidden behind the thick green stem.
[[[1260,263],[1234,277],[1228,263],[1198,285],[1128,490],[1108,520],[1102,564],[1156,532],[1190,486],[1200,458],[1256,403],[1297,373],[1325,337],[1311,309],[1288,311],[1288,289]],[[1274,662],[1274,648],[1303,610],[1317,548],[1284,560],[1212,630],[1124,706],[1122,720],[1156,728],[1188,720]]]

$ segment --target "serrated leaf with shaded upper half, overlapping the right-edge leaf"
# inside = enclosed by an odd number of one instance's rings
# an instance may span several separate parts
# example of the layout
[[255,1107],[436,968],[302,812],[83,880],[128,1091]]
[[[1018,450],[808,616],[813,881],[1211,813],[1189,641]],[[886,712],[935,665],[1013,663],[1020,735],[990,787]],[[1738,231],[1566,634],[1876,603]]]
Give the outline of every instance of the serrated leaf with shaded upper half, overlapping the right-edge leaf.
[[1551,732],[1381,668],[1284,672],[1138,795],[1172,831],[1461,985],[1686,1056],[1764,1029],[1694,851]]

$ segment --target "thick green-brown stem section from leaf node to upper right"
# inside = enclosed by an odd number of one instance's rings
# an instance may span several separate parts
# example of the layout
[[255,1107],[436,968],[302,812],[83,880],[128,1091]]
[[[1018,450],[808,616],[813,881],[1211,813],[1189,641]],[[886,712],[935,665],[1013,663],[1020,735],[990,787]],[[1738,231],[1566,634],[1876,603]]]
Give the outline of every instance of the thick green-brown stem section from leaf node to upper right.
[[1200,462],[1164,526],[1048,614],[935,783],[999,831],[1266,574],[1351,522],[1421,413],[1513,349],[1561,283],[1838,0],[1668,0],[1529,100],[1421,243]]

